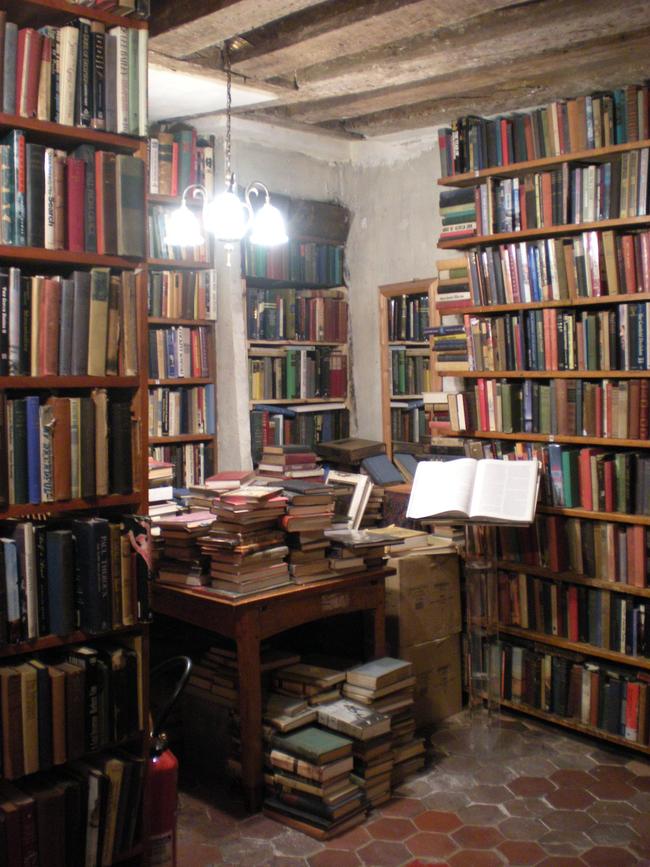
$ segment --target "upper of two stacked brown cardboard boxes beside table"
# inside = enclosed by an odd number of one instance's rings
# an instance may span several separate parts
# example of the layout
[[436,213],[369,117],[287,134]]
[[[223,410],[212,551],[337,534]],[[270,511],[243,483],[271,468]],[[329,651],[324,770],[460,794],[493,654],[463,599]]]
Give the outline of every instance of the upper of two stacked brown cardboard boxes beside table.
[[413,554],[388,561],[386,635],[391,647],[410,647],[460,632],[457,554]]

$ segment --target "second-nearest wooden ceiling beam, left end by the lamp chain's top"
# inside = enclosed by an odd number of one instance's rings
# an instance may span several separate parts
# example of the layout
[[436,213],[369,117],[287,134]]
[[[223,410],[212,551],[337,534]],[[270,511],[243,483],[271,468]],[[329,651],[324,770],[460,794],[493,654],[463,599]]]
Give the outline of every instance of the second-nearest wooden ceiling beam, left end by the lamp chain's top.
[[257,78],[291,75],[362,49],[376,48],[472,18],[519,0],[337,0],[306,9],[260,30],[233,52],[232,66]]

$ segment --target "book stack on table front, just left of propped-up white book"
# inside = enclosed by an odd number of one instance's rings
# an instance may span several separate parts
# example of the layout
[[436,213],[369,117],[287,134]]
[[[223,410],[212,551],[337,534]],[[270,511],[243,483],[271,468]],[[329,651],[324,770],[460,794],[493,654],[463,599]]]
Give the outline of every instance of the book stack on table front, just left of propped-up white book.
[[333,497],[327,485],[292,480],[284,482],[287,513],[282,526],[287,531],[289,571],[296,584],[330,578],[325,531],[332,527]]

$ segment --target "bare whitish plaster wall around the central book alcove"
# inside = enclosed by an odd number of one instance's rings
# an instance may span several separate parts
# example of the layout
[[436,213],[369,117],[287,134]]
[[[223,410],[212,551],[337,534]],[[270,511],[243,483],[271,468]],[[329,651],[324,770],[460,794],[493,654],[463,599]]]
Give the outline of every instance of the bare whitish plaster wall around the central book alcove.
[[[199,131],[222,135],[222,120]],[[351,213],[346,246],[350,288],[352,431],[381,437],[378,286],[431,277],[440,232],[435,131],[410,142],[353,142],[234,119],[232,163],[239,183],[263,181],[289,196],[337,201]],[[238,261],[233,254],[233,265]],[[233,268],[234,270],[234,268]],[[234,274],[232,275],[234,277]],[[226,275],[217,328],[220,466],[241,465],[248,450],[241,419],[248,409],[241,298]],[[230,293],[234,293],[230,294]],[[233,344],[233,340],[235,343]],[[238,422],[240,424],[238,425]]]

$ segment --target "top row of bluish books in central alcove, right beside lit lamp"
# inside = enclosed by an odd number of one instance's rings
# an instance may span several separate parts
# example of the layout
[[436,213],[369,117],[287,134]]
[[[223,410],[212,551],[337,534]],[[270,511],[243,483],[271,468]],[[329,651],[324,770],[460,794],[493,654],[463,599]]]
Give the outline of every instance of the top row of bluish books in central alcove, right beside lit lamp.
[[343,283],[343,245],[289,241],[275,248],[246,241],[242,245],[247,277],[290,280],[295,283],[340,286]]

